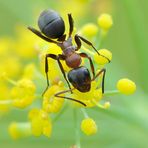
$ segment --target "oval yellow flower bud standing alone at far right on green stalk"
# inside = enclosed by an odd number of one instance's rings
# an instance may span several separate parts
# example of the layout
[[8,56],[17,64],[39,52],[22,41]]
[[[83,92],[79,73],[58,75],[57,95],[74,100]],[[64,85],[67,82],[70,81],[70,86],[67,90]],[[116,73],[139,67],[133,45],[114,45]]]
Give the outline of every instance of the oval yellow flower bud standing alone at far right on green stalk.
[[117,82],[117,89],[123,94],[130,95],[135,92],[136,84],[127,78],[120,79]]

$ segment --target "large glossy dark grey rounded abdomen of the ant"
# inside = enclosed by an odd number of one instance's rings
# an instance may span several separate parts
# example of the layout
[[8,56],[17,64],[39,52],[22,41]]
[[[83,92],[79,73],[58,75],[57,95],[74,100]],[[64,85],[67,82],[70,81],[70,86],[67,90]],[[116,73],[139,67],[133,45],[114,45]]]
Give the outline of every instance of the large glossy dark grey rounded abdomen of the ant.
[[38,19],[41,32],[49,38],[56,39],[65,32],[65,24],[61,16],[51,9],[44,10]]

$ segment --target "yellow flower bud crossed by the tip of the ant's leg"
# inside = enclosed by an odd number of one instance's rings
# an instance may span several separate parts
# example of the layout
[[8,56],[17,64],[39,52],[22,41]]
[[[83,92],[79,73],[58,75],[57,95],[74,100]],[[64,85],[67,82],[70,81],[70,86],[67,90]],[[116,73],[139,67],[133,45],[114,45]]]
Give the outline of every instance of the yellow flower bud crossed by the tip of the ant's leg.
[[[109,62],[108,59],[110,61],[112,60],[112,53],[109,50],[100,49],[99,53],[100,53],[100,55],[98,55],[97,53],[94,54],[94,60],[97,64],[104,65],[104,64],[107,64]],[[103,55],[104,57],[101,56],[101,55]],[[106,59],[105,57],[108,58],[108,59]]]

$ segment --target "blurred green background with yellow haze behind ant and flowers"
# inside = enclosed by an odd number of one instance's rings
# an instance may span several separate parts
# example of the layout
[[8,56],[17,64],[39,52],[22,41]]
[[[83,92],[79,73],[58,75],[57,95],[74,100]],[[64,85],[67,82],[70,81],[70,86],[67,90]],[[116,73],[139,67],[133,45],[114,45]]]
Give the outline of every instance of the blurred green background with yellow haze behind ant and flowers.
[[[80,8],[79,8],[80,7]],[[148,147],[148,1],[147,0],[0,0],[0,37],[15,38],[16,25],[34,25],[41,10],[52,8],[62,16],[71,12],[75,26],[95,22],[102,13],[112,14],[114,25],[101,48],[113,53],[107,66],[106,89],[115,89],[116,82],[128,77],[136,82],[132,96],[116,96],[110,111],[89,109],[99,125],[97,135],[81,134],[82,148],[146,148]],[[12,110],[0,120],[0,147],[3,148],[69,148],[74,144],[72,110],[55,123],[53,135],[13,141],[7,126],[13,120],[26,121],[25,111]]]

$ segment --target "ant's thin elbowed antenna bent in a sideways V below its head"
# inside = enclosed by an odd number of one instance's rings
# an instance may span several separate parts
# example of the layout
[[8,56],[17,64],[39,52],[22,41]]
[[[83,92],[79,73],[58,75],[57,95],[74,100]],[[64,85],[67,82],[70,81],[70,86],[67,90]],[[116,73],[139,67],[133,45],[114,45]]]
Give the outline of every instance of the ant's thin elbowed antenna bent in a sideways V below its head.
[[56,93],[54,96],[55,96],[55,97],[59,97],[59,98],[64,98],[64,99],[67,99],[67,100],[71,100],[71,101],[75,101],[75,102],[77,102],[77,103],[82,104],[83,106],[86,106],[85,103],[83,103],[83,102],[81,102],[81,101],[79,101],[79,100],[76,100],[76,99],[73,99],[73,98],[70,98],[70,97],[60,96],[61,94],[65,94],[65,93],[70,92],[70,91],[72,91],[72,90],[74,90],[74,88],[73,88],[73,89],[69,89],[69,90],[64,90],[64,91],[58,92],[58,93]]

